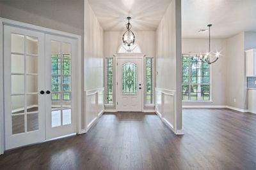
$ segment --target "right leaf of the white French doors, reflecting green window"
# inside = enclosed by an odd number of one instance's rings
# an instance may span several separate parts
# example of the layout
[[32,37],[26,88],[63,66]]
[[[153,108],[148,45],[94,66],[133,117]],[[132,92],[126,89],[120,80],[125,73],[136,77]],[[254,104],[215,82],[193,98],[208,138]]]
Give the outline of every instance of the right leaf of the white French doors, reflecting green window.
[[77,41],[45,35],[46,139],[76,132]]

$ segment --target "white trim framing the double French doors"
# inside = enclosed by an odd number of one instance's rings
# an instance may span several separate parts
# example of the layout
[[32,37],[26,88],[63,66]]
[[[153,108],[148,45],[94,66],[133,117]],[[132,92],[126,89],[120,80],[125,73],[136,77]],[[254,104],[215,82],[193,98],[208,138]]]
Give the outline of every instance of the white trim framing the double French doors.
[[24,28],[24,29],[30,29],[33,31],[38,31],[38,32],[44,32],[45,34],[52,34],[52,35],[56,35],[56,36],[65,36],[68,38],[74,38],[77,39],[77,48],[78,48],[78,52],[77,52],[77,58],[76,59],[76,63],[77,63],[77,115],[76,115],[76,132],[77,134],[81,134],[82,133],[82,129],[81,129],[81,95],[82,95],[82,87],[81,87],[81,83],[82,83],[82,58],[81,58],[81,36],[77,35],[77,34],[71,34],[68,32],[63,32],[63,31],[57,31],[54,29],[49,29],[46,27],[40,27],[37,25],[32,25],[32,24],[26,24],[24,22],[18,22],[15,20],[8,20],[6,18],[1,18],[0,17],[0,154],[3,154],[4,152],[4,110],[3,110],[3,104],[4,104],[4,87],[3,87],[3,73],[4,73],[4,69],[3,69],[3,26],[4,25],[11,25],[14,27],[20,27],[20,28]]

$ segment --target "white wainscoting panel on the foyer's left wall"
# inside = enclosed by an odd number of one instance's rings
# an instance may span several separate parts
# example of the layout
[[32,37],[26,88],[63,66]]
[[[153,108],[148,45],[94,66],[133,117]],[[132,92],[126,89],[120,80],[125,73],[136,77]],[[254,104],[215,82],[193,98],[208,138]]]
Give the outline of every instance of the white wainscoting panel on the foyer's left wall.
[[88,132],[96,120],[104,112],[104,87],[86,90],[85,95],[85,129]]

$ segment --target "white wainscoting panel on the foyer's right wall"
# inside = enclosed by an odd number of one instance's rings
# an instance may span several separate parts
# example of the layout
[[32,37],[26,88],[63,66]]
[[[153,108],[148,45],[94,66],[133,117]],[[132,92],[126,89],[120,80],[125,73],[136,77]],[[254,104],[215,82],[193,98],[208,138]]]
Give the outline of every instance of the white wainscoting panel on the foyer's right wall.
[[176,123],[176,91],[156,88],[156,113],[175,134]]

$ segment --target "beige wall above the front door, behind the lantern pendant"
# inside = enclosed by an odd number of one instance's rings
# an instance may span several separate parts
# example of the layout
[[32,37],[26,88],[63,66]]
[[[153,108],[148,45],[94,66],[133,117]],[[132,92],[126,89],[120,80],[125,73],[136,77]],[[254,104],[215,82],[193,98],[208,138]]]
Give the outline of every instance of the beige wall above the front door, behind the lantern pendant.
[[[122,45],[124,31],[104,31],[104,57],[111,57],[117,53]],[[135,43],[140,46],[141,52],[148,57],[155,57],[155,31],[134,31]],[[111,43],[110,43],[111,42]]]

